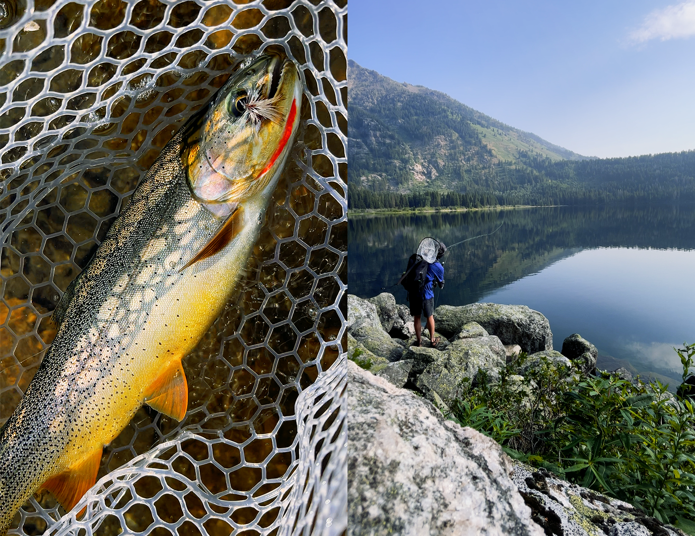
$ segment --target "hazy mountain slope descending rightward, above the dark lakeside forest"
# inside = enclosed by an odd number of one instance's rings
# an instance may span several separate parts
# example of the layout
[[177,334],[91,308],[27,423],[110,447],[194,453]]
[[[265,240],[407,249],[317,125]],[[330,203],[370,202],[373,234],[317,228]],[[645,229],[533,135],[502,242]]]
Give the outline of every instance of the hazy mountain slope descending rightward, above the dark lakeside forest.
[[351,176],[406,191],[452,186],[461,172],[517,161],[521,152],[553,161],[586,156],[504,124],[445,93],[399,83],[347,64]]

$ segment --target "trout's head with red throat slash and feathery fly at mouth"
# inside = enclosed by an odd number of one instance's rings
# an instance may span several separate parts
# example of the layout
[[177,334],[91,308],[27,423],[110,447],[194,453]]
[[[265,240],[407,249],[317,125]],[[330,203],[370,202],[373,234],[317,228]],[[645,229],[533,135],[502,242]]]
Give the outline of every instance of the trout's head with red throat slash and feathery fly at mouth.
[[187,152],[193,197],[218,216],[265,188],[297,130],[302,83],[295,63],[263,54],[232,75]]

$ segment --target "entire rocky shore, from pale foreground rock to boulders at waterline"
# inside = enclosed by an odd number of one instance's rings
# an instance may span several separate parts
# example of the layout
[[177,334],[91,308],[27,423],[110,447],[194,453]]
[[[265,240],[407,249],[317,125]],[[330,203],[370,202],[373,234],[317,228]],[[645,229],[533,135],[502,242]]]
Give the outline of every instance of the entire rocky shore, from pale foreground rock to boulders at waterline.
[[548,319],[523,305],[441,305],[434,320],[439,344],[425,330],[423,346],[413,346],[413,319],[393,295],[348,295],[348,357],[361,367],[349,364],[347,389],[350,534],[685,534],[512,462],[493,439],[442,415],[464,378],[496,383],[520,352],[528,355],[515,370],[520,382],[541,362],[594,373],[593,344],[573,334],[554,350]]

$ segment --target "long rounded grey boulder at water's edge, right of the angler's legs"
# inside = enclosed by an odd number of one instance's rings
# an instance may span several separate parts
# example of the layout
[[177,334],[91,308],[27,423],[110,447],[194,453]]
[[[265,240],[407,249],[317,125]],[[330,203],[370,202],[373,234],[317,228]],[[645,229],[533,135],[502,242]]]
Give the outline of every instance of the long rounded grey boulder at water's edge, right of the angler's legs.
[[553,332],[548,318],[525,305],[473,303],[463,307],[440,305],[434,311],[436,329],[454,336],[469,322],[477,322],[504,344],[518,344],[532,354],[553,350]]

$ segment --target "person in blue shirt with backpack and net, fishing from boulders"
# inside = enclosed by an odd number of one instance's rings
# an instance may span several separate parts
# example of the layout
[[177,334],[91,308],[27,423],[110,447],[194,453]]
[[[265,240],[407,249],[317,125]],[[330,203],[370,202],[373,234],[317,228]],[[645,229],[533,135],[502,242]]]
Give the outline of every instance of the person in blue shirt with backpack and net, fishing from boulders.
[[446,246],[434,238],[423,238],[418,252],[408,259],[406,272],[399,280],[404,286],[410,304],[410,314],[414,317],[416,346],[422,346],[421,318],[425,314],[427,331],[430,332],[432,347],[439,343],[434,336],[434,286],[444,288],[444,267],[439,259],[445,254]]

